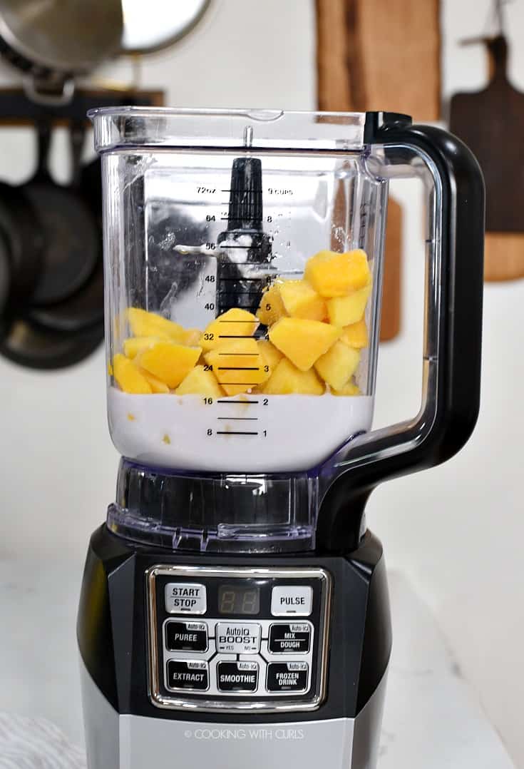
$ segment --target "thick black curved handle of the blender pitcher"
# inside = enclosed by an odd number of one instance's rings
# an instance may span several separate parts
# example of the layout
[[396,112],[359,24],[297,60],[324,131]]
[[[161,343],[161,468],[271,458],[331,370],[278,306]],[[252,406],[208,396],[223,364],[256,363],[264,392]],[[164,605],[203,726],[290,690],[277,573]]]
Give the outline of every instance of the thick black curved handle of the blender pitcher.
[[[380,124],[380,121],[383,121]],[[434,399],[413,421],[355,441],[356,458],[323,496],[317,546],[351,551],[365,530],[364,508],[380,482],[433,467],[456,454],[473,432],[479,414],[483,308],[484,182],[475,156],[455,136],[410,118],[388,113],[366,115],[366,143],[399,145],[425,155],[433,165],[441,194],[440,238],[430,269],[439,285],[436,356],[426,361]],[[436,367],[436,368],[431,368]],[[432,393],[433,394],[433,393]],[[359,448],[360,447],[360,448]]]

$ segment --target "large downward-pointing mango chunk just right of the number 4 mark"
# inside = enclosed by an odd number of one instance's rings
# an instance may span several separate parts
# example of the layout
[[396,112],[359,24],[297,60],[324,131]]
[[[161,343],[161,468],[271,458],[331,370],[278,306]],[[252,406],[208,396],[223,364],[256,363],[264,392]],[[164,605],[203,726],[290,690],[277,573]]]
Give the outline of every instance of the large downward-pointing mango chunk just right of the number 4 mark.
[[269,331],[270,341],[300,368],[300,371],[311,368],[317,358],[327,352],[339,336],[340,328],[302,318],[281,318]]

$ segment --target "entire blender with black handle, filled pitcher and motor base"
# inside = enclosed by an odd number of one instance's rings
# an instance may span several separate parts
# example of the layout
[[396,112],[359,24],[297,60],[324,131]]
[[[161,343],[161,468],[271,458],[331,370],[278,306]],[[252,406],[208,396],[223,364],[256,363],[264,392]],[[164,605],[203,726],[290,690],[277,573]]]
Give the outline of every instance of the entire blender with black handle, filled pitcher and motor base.
[[[78,613],[88,767],[373,769],[391,628],[366,501],[473,431],[479,166],[393,113],[91,118],[122,458]],[[420,411],[373,431],[388,184],[408,177]]]

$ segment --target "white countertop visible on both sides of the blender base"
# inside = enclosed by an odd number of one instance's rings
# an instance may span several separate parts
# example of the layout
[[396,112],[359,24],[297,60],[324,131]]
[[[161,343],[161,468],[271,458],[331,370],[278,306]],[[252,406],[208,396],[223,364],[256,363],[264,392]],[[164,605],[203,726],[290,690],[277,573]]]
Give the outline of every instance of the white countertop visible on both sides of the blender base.
[[[83,742],[75,641],[82,565],[0,558],[0,711]],[[514,769],[423,601],[390,573],[393,656],[379,769]]]

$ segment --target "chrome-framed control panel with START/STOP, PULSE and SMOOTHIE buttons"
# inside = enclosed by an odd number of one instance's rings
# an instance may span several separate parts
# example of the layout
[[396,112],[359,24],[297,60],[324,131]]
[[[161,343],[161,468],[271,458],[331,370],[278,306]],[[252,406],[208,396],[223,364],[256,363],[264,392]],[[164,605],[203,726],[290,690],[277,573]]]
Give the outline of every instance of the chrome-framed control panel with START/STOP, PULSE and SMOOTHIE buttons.
[[151,568],[151,701],[193,711],[318,707],[330,583],[320,568]]

